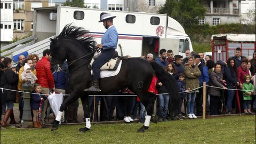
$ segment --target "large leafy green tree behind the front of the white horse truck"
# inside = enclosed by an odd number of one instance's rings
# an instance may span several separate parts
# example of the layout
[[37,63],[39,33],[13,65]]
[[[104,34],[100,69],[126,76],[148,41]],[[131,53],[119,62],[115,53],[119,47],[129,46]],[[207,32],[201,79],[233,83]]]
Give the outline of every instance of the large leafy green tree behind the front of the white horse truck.
[[158,13],[166,13],[183,27],[198,25],[198,19],[204,18],[205,0],[166,0]]

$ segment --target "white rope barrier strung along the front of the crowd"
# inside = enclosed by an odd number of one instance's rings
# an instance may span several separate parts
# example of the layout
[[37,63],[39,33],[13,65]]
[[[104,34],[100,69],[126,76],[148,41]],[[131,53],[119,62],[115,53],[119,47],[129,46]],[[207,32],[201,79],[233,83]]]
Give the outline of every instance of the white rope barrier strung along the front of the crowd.
[[[217,86],[211,86],[211,85],[205,85],[207,87],[214,87],[214,88],[217,88],[217,89],[223,89],[222,87],[217,87]],[[197,87],[196,89],[193,89],[193,90],[190,90],[190,91],[195,91],[197,89],[200,89],[201,87],[203,86],[199,86]],[[14,91],[14,92],[22,92],[22,93],[30,93],[30,94],[37,94],[37,93],[33,93],[33,92],[25,92],[25,91],[19,91],[19,90],[11,90],[11,89],[5,89],[3,87],[1,87],[1,90],[2,92],[4,93],[3,90],[7,90],[7,91]],[[224,89],[223,89],[224,90]],[[247,91],[247,90],[239,90],[239,89],[226,89],[226,90],[233,90],[233,91]],[[253,91],[255,92],[255,90]],[[183,92],[179,92],[179,93],[187,93],[187,91],[183,91]],[[169,93],[158,93],[156,95],[160,95],[160,94],[169,94]],[[63,96],[66,96],[66,95],[70,95],[70,94],[63,94]],[[96,95],[89,95],[90,97],[94,97],[94,96],[101,96],[101,97],[134,97],[134,96],[137,96],[137,94],[96,94]]]

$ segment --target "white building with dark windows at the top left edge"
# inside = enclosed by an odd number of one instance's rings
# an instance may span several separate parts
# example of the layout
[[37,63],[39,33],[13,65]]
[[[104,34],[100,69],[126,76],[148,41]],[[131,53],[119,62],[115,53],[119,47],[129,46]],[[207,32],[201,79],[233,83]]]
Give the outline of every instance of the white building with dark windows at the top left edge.
[[1,0],[1,47],[13,38],[13,0]]

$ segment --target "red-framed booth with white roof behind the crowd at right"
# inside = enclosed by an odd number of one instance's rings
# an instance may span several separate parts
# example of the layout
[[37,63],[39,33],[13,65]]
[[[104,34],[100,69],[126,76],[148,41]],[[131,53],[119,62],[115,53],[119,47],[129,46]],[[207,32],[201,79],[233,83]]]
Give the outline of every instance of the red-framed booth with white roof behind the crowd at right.
[[234,57],[237,47],[242,49],[241,53],[246,58],[252,57],[256,50],[255,34],[218,34],[212,35],[211,41],[214,62],[227,61],[228,58]]

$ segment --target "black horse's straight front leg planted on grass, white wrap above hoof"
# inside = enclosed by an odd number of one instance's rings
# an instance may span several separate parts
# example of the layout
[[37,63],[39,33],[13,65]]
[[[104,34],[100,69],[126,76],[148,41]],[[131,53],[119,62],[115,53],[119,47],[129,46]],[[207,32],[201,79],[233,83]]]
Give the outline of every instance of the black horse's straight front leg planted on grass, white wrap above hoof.
[[89,95],[86,94],[84,97],[81,97],[81,101],[82,101],[84,116],[85,116],[85,127],[80,128],[79,132],[85,132],[91,129]]

